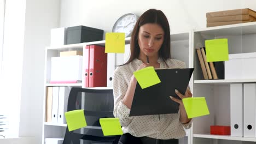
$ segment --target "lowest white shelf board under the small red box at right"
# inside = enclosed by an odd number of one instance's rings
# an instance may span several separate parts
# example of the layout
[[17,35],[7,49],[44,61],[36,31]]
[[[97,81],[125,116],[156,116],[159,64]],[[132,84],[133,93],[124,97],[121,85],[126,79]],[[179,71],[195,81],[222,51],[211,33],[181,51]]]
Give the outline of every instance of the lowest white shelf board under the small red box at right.
[[206,139],[222,139],[222,140],[234,140],[234,141],[256,141],[256,138],[249,137],[235,137],[230,135],[210,135],[210,134],[194,134],[193,137],[200,137]]

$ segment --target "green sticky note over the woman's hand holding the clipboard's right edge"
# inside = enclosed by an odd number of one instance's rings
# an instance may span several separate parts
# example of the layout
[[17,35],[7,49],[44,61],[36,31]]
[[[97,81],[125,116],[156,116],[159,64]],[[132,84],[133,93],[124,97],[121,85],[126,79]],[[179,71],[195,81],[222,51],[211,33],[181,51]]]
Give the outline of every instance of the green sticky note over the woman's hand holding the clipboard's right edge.
[[182,99],[188,118],[209,115],[205,97]]

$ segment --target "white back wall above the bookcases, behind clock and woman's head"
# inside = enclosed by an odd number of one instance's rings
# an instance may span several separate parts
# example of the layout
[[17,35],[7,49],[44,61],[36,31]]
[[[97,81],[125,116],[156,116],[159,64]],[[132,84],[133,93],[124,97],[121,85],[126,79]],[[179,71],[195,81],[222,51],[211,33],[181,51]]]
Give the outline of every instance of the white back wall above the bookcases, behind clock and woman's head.
[[140,16],[150,8],[162,10],[171,31],[180,32],[206,27],[206,13],[211,11],[251,8],[252,0],[62,0],[60,27],[84,25],[112,31],[114,22],[126,13]]

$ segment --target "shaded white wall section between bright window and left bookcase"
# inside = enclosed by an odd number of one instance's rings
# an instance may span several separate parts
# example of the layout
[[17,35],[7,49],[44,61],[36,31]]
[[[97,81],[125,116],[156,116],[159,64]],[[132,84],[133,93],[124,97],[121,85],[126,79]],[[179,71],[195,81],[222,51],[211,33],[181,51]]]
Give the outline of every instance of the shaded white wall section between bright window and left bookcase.
[[60,1],[26,0],[25,16],[19,136],[42,143],[45,46],[50,29],[59,26]]

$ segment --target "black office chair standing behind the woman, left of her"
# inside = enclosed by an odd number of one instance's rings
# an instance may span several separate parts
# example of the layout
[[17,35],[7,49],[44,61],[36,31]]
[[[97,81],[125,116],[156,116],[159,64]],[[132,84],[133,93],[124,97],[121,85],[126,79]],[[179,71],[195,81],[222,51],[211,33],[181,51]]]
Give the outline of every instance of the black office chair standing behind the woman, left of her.
[[103,136],[99,122],[99,118],[114,117],[113,107],[112,89],[71,88],[67,111],[84,109],[88,126],[73,131],[67,128],[63,143],[80,144],[81,140],[84,143],[117,143],[120,136]]

